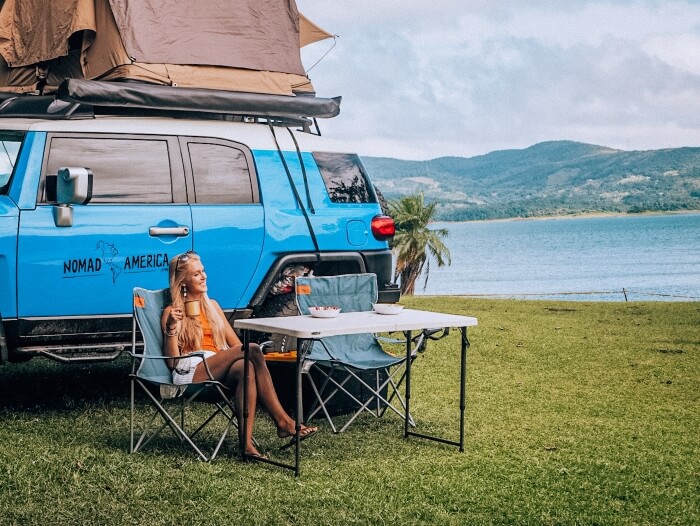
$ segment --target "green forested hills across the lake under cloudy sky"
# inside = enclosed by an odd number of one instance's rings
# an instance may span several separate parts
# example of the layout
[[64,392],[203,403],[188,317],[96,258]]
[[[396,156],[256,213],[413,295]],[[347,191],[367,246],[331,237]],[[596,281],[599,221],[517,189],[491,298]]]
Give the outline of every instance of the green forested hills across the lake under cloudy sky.
[[469,158],[362,160],[387,199],[422,191],[445,221],[700,209],[700,148],[550,141]]

